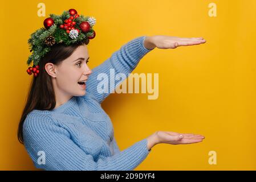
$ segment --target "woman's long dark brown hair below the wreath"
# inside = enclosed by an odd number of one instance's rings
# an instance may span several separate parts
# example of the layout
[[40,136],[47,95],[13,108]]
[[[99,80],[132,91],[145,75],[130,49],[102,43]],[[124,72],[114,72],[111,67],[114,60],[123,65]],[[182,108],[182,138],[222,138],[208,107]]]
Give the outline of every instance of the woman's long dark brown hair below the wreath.
[[37,77],[32,78],[30,83],[29,93],[25,108],[23,109],[21,119],[18,126],[18,140],[24,144],[23,140],[23,123],[30,111],[36,110],[52,110],[56,105],[54,88],[51,81],[51,76],[48,75],[44,69],[46,63],[52,63],[55,65],[60,64],[67,57],[71,56],[76,48],[83,44],[88,44],[90,41],[86,39],[84,42],[71,44],[65,46],[64,44],[55,44],[51,47],[51,51],[39,61],[39,74]]

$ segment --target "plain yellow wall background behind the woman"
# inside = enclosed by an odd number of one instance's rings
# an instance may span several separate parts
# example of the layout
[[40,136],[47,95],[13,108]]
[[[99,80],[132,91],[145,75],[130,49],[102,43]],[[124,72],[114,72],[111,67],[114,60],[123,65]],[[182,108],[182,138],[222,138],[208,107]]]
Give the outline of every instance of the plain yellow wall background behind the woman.
[[[217,17],[208,15],[209,3]],[[45,3],[46,17],[38,17]],[[88,45],[96,67],[129,40],[143,35],[199,37],[207,43],[155,49],[133,73],[159,73],[159,98],[111,94],[103,107],[121,150],[157,130],[205,135],[204,142],[159,144],[136,170],[256,169],[256,1],[94,0],[4,1],[1,6],[0,169],[35,169],[17,140],[17,126],[32,76],[27,39],[50,13],[74,8],[96,18]],[[208,163],[209,151],[217,164]]]

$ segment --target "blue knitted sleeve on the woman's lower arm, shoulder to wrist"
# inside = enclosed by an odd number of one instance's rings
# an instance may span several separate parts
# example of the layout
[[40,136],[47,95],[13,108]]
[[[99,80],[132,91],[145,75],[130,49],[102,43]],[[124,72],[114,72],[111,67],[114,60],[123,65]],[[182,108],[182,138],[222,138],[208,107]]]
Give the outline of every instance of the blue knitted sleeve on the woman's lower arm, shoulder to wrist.
[[[107,158],[94,158],[79,148],[64,128],[47,119],[26,119],[23,125],[25,147],[36,168],[45,170],[130,171],[149,154],[147,139]],[[44,154],[44,163],[42,154]]]

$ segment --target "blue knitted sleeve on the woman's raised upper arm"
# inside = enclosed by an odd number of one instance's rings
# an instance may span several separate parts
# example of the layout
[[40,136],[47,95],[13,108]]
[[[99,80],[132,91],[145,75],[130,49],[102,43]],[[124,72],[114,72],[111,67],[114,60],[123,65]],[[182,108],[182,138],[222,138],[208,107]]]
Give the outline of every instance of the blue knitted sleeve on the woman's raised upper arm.
[[[125,78],[121,78],[115,81],[115,76],[118,73],[124,73],[123,75],[127,78],[128,73],[131,73],[136,68],[142,57],[154,49],[145,48],[145,38],[147,36],[140,36],[130,40],[118,51],[115,51],[109,59],[92,69],[92,74],[86,83],[86,92],[100,103],[109,96],[125,80]],[[105,86],[103,86],[103,82]]]

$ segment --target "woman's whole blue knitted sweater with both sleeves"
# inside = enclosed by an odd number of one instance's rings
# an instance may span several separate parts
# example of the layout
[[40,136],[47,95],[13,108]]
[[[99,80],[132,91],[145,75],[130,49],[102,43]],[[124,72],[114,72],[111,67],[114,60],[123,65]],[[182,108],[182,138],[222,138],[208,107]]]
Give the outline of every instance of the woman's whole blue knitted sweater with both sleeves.
[[101,102],[121,81],[115,81],[108,93],[99,93],[97,75],[106,73],[109,76],[109,69],[115,69],[115,73],[128,77],[141,58],[152,50],[144,46],[146,37],[129,41],[92,69],[84,96],[73,96],[56,109],[34,109],[27,115],[23,138],[36,168],[130,171],[143,162],[151,151],[148,151],[147,139],[120,151],[111,119],[101,107]]

